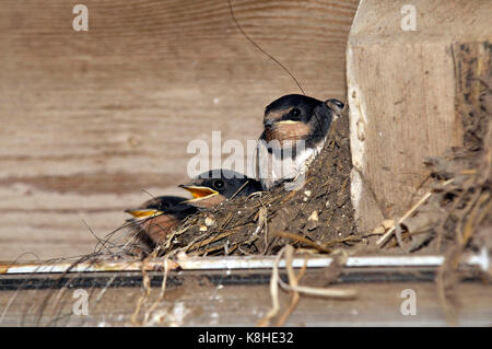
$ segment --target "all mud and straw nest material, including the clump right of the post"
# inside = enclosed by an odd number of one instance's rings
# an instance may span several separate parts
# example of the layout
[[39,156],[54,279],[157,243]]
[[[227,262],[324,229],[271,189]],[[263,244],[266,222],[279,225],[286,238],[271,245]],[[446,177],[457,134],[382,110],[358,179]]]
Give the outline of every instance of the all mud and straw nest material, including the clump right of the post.
[[[188,217],[153,255],[276,255],[286,244],[297,252],[316,254],[333,249],[449,253],[477,251],[484,244],[492,247],[491,234],[487,234],[487,226],[492,225],[491,98],[484,85],[477,101],[462,101],[464,147],[424,160],[430,172],[422,186],[429,190],[400,219],[384,221],[370,232],[356,232],[350,199],[349,117],[344,110],[333,121],[300,189],[289,191],[279,185]],[[471,239],[477,231],[479,234]]]

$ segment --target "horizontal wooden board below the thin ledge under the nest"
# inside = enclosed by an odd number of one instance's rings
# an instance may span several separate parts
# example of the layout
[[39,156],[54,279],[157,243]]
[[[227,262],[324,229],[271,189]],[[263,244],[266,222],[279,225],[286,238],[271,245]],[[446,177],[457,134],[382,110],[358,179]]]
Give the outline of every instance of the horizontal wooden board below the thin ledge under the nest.
[[[244,272],[243,272],[244,274]],[[233,272],[234,275],[234,272]],[[203,282],[202,272],[169,275],[163,300],[159,301],[159,282],[142,303],[137,317],[142,324],[145,312],[154,302],[157,306],[150,313],[147,326],[255,326],[271,309],[268,277],[263,282],[248,283],[247,275],[236,284],[221,282],[233,278],[226,271],[211,271],[209,277],[219,283]],[[176,279],[177,278],[177,279]],[[200,281],[201,280],[201,281]],[[306,281],[308,280],[308,281]],[[324,277],[308,271],[307,284],[321,287]],[[85,288],[89,294],[87,315],[75,315],[73,298],[78,288],[59,290],[0,291],[0,325],[42,326],[126,326],[132,325],[131,315],[143,294],[140,282],[125,288]],[[355,300],[333,300],[302,296],[297,309],[289,317],[288,326],[446,326],[449,325],[438,302],[433,282],[347,283],[336,288],[355,289]],[[401,293],[411,289],[417,296],[415,315],[401,313]],[[465,282],[457,287],[459,312],[457,325],[490,326],[492,301],[490,286],[481,282]],[[255,294],[251,298],[251,294]],[[283,312],[289,304],[289,294],[280,292]],[[42,301],[46,307],[40,309]],[[8,307],[7,307],[8,306]]]

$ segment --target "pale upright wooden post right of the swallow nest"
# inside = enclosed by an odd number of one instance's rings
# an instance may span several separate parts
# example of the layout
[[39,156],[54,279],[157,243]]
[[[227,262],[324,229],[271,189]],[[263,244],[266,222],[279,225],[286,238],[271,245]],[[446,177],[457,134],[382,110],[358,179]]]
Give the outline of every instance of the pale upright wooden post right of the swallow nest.
[[490,1],[412,1],[414,32],[400,26],[407,3],[361,1],[349,38],[352,201],[364,231],[415,203],[426,156],[464,144],[452,46],[492,39]]

